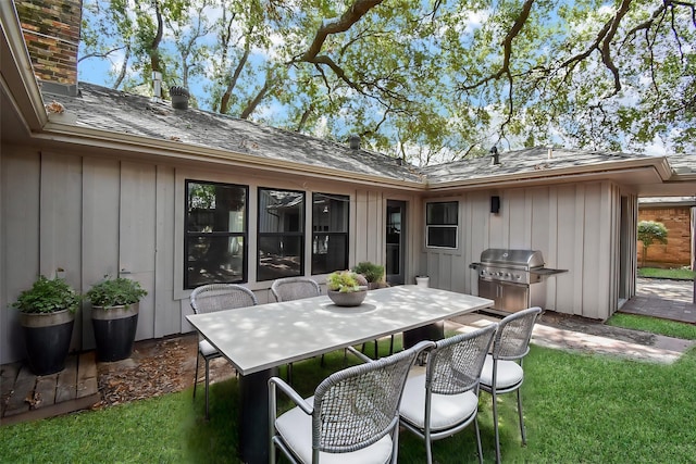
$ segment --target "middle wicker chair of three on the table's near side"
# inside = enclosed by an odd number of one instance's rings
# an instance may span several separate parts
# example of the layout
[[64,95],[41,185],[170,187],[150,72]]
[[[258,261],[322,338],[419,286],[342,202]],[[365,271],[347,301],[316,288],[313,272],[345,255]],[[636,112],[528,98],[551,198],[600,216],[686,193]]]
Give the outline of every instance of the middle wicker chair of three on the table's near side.
[[497,324],[490,324],[436,341],[427,352],[425,372],[407,380],[399,407],[401,426],[425,440],[428,464],[433,462],[434,440],[450,437],[472,423],[478,462],[483,463],[476,422],[478,381],[497,328]]

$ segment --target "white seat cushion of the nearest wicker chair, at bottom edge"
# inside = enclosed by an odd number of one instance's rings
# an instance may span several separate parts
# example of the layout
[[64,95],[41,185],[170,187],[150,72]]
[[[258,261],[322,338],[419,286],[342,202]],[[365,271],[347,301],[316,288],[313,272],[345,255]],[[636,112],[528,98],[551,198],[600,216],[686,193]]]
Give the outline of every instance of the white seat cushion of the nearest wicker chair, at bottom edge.
[[[312,404],[314,397],[307,399]],[[275,419],[275,428],[285,444],[301,462],[312,462],[312,416],[299,407],[294,407]],[[391,457],[391,437],[386,436],[376,443],[350,453],[320,453],[322,464],[356,463],[384,464]]]

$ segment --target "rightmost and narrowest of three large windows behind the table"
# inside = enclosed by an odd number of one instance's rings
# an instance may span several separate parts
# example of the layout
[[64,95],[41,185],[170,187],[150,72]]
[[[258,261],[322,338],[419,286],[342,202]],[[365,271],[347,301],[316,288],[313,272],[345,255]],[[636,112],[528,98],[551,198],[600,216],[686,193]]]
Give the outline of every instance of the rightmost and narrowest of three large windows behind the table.
[[350,197],[312,195],[312,274],[348,267]]

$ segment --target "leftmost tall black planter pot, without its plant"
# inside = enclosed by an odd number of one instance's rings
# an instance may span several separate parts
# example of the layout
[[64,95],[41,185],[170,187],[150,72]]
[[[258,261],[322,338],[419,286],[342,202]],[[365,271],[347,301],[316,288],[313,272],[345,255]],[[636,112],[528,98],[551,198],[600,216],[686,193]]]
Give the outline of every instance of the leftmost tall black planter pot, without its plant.
[[20,313],[29,367],[35,375],[65,368],[75,315],[67,310],[54,313]]

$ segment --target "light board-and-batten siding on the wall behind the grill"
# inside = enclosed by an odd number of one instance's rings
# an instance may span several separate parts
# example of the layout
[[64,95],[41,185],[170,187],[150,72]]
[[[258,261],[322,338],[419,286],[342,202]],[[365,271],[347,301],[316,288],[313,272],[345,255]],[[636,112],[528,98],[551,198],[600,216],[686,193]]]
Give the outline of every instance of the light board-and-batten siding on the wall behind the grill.
[[[500,197],[498,214],[490,213],[494,195]],[[631,198],[629,204],[635,203]],[[597,319],[616,311],[622,260],[618,186],[602,181],[476,191],[424,203],[450,200],[459,201],[459,247],[423,247],[432,286],[477,294],[478,276],[469,264],[478,262],[482,251],[533,249],[542,251],[547,267],[569,271],[543,284],[545,309]]]

